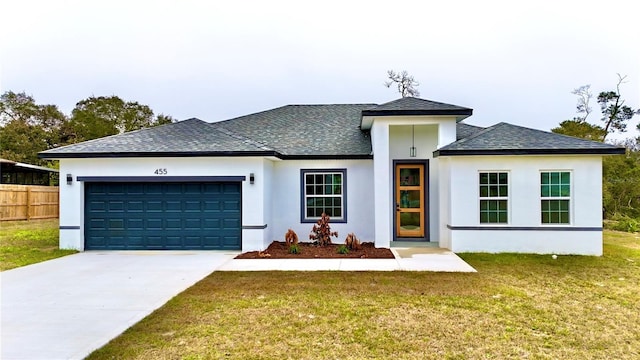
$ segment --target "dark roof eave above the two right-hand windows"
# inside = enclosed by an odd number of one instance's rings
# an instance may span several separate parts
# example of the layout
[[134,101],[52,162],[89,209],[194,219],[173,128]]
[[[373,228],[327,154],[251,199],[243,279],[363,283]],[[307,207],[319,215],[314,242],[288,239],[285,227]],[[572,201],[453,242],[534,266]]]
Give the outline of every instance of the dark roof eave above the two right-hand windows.
[[480,155],[621,155],[624,148],[611,149],[491,149],[491,150],[447,150],[433,152],[439,156],[480,156]]

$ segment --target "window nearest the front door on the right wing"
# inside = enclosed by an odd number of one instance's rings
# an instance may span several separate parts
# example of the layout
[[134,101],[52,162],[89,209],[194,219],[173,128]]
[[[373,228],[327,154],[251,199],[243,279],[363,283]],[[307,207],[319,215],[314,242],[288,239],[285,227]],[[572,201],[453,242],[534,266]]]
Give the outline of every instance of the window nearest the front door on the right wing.
[[479,183],[480,223],[506,224],[508,222],[509,174],[481,172]]

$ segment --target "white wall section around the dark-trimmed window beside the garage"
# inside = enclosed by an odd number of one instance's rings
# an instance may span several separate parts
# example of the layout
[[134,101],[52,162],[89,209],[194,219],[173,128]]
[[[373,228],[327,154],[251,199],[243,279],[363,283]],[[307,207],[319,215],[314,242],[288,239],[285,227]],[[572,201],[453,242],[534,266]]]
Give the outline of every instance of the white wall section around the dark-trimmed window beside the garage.
[[[335,243],[342,244],[348,233],[363,242],[373,242],[374,178],[371,160],[285,160],[273,163],[271,195],[272,228],[269,243],[284,241],[288,229],[298,234],[300,241],[309,241],[313,223],[301,221],[302,169],[346,169],[347,222],[331,222],[331,230],[338,232]],[[387,245],[388,247],[388,245]]]

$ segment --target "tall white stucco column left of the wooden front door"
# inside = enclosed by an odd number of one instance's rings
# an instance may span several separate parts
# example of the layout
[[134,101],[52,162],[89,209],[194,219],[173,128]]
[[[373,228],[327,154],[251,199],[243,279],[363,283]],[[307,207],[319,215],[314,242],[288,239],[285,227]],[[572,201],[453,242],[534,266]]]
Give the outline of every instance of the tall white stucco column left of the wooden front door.
[[391,162],[389,160],[389,124],[374,123],[371,128],[373,147],[373,188],[375,245],[389,247],[392,239]]

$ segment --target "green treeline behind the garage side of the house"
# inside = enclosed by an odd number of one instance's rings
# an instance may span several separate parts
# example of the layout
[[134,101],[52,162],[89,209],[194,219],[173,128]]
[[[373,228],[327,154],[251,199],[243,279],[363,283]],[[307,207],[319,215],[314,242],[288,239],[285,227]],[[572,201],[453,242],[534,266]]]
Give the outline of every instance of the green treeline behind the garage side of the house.
[[0,158],[56,167],[38,152],[171,122],[171,116],[155,116],[149,106],[117,96],[81,100],[67,115],[57,105],[7,91],[0,95]]

